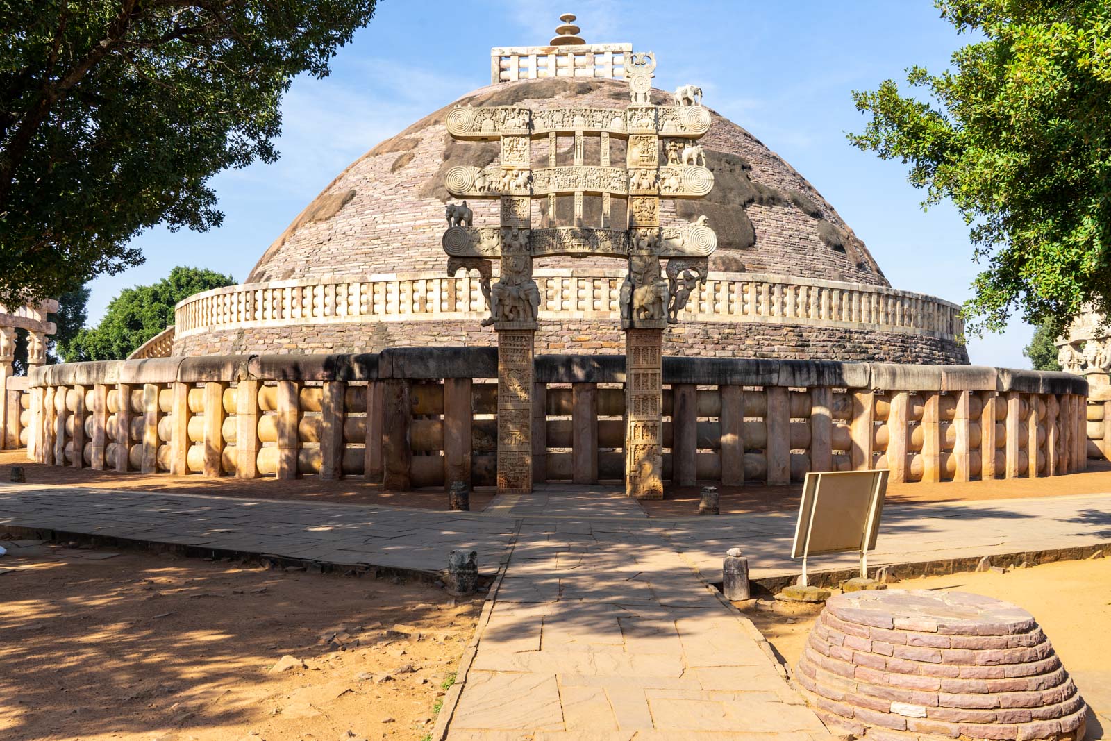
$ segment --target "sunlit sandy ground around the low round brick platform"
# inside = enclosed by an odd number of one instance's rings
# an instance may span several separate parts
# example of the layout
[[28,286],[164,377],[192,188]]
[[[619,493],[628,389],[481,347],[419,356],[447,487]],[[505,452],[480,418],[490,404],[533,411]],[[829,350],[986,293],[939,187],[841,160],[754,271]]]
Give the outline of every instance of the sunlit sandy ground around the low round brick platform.
[[[891,589],[972,592],[1030,611],[1088,701],[1085,738],[1111,738],[1111,559],[1060,561],[1009,573],[925,577],[892,584]],[[752,603],[744,609],[793,668],[817,613],[787,615]]]

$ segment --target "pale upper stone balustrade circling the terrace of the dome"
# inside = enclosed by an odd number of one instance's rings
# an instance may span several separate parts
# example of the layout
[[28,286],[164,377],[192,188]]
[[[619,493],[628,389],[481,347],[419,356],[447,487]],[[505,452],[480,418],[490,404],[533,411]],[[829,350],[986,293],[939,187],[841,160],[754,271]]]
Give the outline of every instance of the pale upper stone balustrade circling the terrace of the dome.
[[[620,320],[623,273],[542,270],[533,276],[540,321]],[[467,321],[488,314],[477,273],[380,274],[330,281],[271,281],[218,288],[177,307],[177,337],[210,330],[368,321]],[[960,307],[921,293],[864,283],[711,272],[681,322],[769,322],[930,334],[963,333]]]

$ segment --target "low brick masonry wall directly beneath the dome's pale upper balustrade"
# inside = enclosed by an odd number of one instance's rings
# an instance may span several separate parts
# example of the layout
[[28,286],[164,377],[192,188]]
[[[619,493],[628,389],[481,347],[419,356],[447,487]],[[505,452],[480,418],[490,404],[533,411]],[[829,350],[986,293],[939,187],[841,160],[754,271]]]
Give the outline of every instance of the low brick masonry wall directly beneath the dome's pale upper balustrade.
[[[179,338],[174,356],[378,352],[383,348],[493,346],[496,332],[473,321],[300,324],[206,332]],[[621,329],[597,321],[540,322],[537,353],[613,353]],[[952,340],[909,332],[768,322],[684,322],[663,338],[668,356],[967,364]]]

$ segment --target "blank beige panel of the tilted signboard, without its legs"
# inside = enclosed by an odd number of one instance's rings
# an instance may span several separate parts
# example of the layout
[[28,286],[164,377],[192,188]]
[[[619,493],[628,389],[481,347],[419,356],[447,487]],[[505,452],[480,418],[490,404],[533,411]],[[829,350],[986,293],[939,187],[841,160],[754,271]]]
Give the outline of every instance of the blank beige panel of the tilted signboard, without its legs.
[[888,471],[808,473],[791,558],[874,549],[887,490]]

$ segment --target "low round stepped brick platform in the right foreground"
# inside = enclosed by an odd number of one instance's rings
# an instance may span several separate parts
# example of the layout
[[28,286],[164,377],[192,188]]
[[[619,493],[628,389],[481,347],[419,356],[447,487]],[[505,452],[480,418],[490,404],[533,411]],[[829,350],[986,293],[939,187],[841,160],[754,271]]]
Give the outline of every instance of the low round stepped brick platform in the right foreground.
[[867,739],[1084,737],[1084,701],[1033,615],[979,594],[839,594],[795,680],[828,725]]

